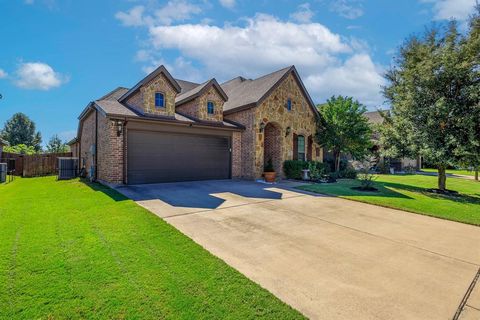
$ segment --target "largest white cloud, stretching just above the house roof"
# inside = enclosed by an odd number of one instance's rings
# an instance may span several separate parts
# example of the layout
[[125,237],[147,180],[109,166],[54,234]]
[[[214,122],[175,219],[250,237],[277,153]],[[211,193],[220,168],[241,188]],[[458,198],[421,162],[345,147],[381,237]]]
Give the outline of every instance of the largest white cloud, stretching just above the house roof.
[[[202,80],[211,76],[219,80],[237,75],[254,78],[295,64],[317,101],[342,94],[370,106],[383,102],[382,70],[366,53],[368,46],[319,23],[297,24],[258,14],[246,19],[244,26],[180,24],[148,30],[150,54],[163,49],[180,52],[183,63],[167,65],[176,76],[178,70],[187,79],[190,74],[203,76]],[[158,66],[163,60],[150,61]]]

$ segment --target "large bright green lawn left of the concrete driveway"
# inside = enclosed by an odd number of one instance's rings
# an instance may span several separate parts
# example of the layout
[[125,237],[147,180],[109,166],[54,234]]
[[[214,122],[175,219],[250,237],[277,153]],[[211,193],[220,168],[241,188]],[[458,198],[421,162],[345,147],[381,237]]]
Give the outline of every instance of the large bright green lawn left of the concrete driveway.
[[257,317],[303,318],[115,191],[0,185],[0,319]]

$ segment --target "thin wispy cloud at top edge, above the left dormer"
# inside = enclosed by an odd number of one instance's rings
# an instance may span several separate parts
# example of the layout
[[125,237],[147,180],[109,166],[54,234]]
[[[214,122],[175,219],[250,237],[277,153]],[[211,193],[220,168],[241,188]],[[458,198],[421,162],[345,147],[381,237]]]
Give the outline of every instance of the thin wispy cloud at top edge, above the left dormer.
[[127,12],[117,12],[115,18],[125,26],[170,25],[175,21],[185,21],[202,12],[200,6],[186,0],[170,0],[159,9],[152,9],[152,15],[145,15],[144,6],[135,6]]

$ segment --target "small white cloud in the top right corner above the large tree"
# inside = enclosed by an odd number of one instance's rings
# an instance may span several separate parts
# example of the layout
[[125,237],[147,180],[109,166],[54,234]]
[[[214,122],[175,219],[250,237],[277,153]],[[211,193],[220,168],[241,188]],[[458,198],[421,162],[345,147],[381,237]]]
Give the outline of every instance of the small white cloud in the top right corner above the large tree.
[[459,21],[467,20],[473,13],[475,0],[421,0],[433,3],[433,12],[436,20],[455,18]]

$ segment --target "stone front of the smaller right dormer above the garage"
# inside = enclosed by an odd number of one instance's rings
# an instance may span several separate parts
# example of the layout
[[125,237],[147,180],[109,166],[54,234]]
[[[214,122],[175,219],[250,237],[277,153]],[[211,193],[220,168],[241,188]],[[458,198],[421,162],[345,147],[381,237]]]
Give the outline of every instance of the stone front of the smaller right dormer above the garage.
[[[214,113],[208,114],[207,102],[212,101],[215,105]],[[201,96],[187,103],[177,106],[177,111],[194,118],[206,121],[223,121],[223,104],[225,101],[214,86],[210,86]]]

